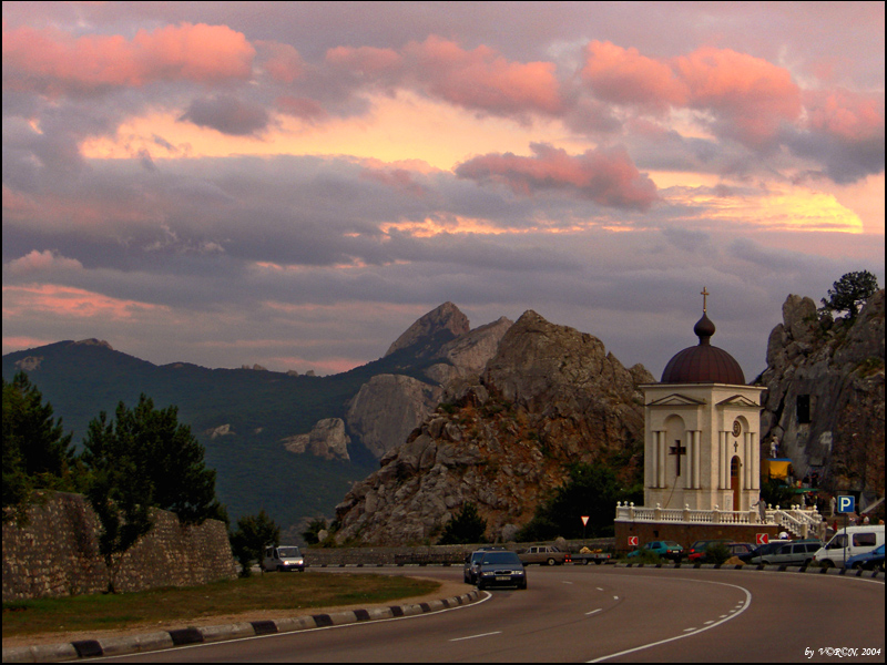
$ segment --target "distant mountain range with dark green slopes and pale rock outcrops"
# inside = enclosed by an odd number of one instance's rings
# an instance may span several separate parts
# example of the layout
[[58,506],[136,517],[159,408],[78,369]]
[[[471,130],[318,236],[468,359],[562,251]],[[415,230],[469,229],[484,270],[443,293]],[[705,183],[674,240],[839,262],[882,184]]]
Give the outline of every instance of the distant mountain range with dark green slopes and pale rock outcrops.
[[479,371],[510,326],[471,330],[451,303],[417,320],[387,354],[337,375],[156,366],[98,339],[67,340],[2,357],[3,378],[19,370],[49,401],[80,446],[90,420],[134,406],[175,405],[216,470],[232,521],[265,509],[297,533],[306,519],[332,516],[351,484],[430,412],[442,383]]

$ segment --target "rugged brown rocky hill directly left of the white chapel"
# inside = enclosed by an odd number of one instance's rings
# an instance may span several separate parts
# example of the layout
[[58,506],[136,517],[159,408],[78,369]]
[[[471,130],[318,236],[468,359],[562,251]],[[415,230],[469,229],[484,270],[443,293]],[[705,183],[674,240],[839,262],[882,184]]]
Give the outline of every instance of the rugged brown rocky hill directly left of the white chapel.
[[477,380],[442,403],[336,508],[338,543],[434,540],[472,502],[490,538],[509,540],[573,462],[641,464],[643,400],[654,378],[625,369],[591,335],[527,311]]

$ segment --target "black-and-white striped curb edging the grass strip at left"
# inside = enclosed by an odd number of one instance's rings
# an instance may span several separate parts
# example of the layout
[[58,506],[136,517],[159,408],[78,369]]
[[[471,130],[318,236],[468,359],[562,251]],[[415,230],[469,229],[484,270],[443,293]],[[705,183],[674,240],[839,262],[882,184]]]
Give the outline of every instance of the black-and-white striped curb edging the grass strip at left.
[[325,628],[383,618],[416,616],[419,614],[440,612],[441,610],[450,610],[461,605],[470,605],[479,597],[480,592],[473,590],[458,596],[439,598],[428,603],[370,607],[367,610],[347,610],[326,614],[243,622],[220,626],[187,626],[172,631],[146,633],[143,635],[81,640],[64,644],[4,646],[3,663],[59,663],[62,661],[77,661],[95,656],[119,656],[150,652],[159,648],[171,648],[185,644],[208,644],[212,642],[223,642],[225,640],[236,640],[238,637],[274,635],[277,633]]

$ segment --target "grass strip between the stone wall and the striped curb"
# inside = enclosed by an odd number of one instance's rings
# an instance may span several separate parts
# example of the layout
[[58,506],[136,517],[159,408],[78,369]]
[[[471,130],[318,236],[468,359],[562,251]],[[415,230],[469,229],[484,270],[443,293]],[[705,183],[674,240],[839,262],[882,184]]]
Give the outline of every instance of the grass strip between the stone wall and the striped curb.
[[105,631],[249,611],[365,603],[375,605],[434,592],[440,584],[400,575],[268,573],[202,586],[93,594],[3,603],[3,637]]

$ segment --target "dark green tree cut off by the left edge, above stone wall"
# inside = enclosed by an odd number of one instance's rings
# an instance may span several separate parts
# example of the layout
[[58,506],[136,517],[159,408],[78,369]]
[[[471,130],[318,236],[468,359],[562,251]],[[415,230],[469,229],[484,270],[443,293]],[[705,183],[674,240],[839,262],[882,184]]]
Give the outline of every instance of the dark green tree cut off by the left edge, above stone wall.
[[21,522],[34,489],[75,485],[71,434],[24,372],[3,379],[3,521]]

